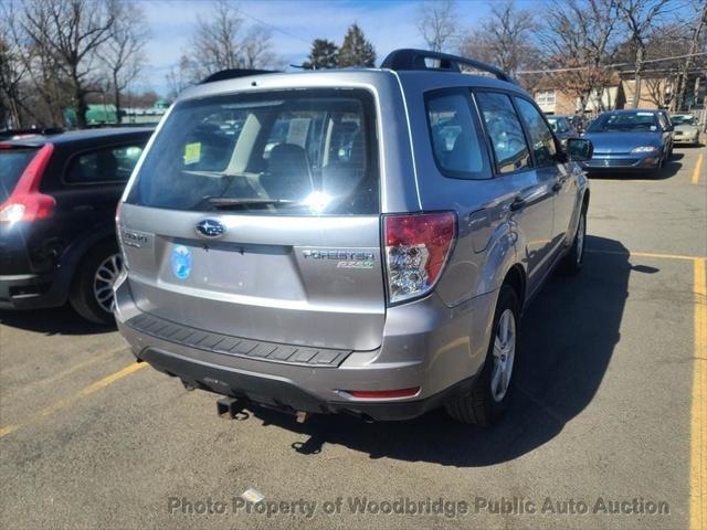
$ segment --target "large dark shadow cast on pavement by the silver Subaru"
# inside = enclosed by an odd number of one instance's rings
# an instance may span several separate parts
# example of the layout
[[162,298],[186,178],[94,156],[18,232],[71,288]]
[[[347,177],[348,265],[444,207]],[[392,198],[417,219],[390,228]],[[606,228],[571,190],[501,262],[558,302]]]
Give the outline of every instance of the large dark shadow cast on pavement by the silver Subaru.
[[308,436],[293,444],[305,455],[318,454],[325,444],[340,444],[371,458],[476,467],[529,453],[591,403],[620,338],[632,272],[627,250],[595,236],[588,237],[588,248],[603,253],[587,253],[577,277],[555,275],[527,308],[515,394],[508,414],[493,428],[456,424],[442,410],[408,422],[373,424],[344,415],[313,416],[297,424],[278,412],[256,406],[250,411],[264,425]]

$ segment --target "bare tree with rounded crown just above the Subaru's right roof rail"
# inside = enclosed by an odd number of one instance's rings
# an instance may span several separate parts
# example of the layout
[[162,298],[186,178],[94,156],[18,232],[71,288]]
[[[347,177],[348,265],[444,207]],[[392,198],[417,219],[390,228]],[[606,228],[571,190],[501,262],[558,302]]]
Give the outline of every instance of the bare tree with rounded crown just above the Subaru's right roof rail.
[[518,9],[513,0],[505,0],[494,4],[481,26],[462,40],[460,52],[497,64],[513,75],[521,66],[537,61],[537,49],[531,44],[537,29],[530,11]]

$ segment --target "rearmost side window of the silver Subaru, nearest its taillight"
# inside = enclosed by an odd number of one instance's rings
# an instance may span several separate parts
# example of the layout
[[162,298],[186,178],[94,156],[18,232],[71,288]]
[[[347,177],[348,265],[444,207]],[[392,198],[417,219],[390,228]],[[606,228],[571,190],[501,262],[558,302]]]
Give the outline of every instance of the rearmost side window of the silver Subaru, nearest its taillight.
[[425,95],[425,104],[432,151],[442,173],[461,179],[489,178],[471,93],[464,88],[433,91]]

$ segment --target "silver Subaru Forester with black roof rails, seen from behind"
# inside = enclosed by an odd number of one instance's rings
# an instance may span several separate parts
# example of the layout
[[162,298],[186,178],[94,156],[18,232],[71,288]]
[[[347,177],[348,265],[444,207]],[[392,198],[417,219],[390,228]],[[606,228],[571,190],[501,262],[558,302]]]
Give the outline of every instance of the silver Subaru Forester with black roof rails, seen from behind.
[[498,420],[521,311],[582,266],[591,142],[566,155],[505,73],[441,53],[247,74],[182,93],[120,201],[135,356],[299,418]]

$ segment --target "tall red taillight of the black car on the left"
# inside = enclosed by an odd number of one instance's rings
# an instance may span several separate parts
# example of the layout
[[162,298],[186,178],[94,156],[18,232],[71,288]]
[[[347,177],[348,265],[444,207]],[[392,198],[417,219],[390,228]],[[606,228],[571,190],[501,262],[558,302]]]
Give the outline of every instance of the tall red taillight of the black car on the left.
[[39,189],[53,150],[54,146],[46,144],[24,168],[14,190],[0,204],[0,223],[32,222],[52,214],[56,204],[54,198],[40,193]]

